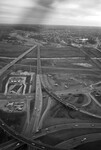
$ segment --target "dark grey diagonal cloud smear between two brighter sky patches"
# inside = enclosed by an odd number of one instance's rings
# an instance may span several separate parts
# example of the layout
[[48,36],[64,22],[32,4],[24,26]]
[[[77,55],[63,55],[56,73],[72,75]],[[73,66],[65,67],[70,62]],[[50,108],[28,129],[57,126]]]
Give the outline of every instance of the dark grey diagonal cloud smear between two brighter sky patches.
[[[64,1],[66,0],[62,0],[62,2]],[[61,3],[61,0],[36,0],[35,7],[29,10],[29,13],[24,19],[29,18],[31,23],[43,23],[44,20],[48,18],[48,15],[56,9],[54,4],[57,2]]]

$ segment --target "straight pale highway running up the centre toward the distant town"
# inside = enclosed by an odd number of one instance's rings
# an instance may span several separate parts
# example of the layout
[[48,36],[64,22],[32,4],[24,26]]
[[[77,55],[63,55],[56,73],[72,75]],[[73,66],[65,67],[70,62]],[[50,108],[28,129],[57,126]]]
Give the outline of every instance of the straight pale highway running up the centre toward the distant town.
[[27,136],[31,136],[32,133],[38,130],[39,119],[42,111],[42,89],[41,89],[41,60],[40,60],[40,47],[37,49],[37,74],[36,74],[36,92],[35,92],[35,104],[32,113],[30,123],[26,127]]

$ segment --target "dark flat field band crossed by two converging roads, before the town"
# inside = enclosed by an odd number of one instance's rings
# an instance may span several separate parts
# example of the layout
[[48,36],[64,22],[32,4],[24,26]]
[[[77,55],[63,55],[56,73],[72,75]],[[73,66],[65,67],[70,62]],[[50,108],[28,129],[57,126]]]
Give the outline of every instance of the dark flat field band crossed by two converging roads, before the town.
[[[0,56],[4,57],[18,57],[23,52],[28,50],[28,46],[12,45],[11,43],[0,43]],[[29,53],[26,57],[36,58],[37,48]],[[41,57],[85,57],[82,51],[78,48],[67,46],[62,48],[56,47],[41,47]]]

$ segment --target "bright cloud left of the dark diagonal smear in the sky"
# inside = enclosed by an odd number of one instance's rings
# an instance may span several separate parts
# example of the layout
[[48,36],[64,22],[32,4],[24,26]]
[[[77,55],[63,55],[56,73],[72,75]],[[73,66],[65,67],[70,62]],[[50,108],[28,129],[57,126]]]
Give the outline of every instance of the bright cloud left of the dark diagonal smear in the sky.
[[1,0],[0,23],[18,23],[31,8],[31,0]]

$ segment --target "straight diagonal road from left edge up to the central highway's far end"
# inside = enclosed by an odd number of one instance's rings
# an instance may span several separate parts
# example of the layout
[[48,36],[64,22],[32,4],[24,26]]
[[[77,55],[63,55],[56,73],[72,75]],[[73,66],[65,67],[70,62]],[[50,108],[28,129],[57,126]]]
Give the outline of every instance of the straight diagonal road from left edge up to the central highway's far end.
[[10,67],[12,67],[15,63],[17,63],[19,60],[21,60],[24,56],[26,56],[28,53],[30,53],[33,49],[35,49],[37,47],[37,45],[31,47],[30,49],[28,49],[26,52],[24,52],[23,54],[21,54],[19,57],[17,57],[16,59],[14,59],[13,61],[11,61],[9,64],[7,64],[6,66],[4,66],[2,69],[0,69],[0,76]]

